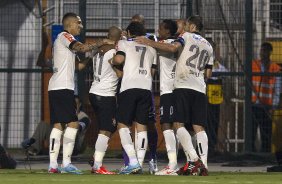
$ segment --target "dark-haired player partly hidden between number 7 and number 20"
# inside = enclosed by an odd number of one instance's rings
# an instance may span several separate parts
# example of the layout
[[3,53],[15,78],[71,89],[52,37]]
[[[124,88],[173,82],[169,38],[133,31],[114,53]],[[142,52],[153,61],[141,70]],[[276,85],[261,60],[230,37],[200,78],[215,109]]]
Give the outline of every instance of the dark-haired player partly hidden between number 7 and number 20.
[[[159,42],[172,44],[175,41],[177,24],[173,20],[163,20],[159,25]],[[174,97],[173,82],[175,78],[176,54],[158,51],[160,61],[160,123],[165,139],[168,165],[155,175],[177,175],[176,140],[173,131]]]

